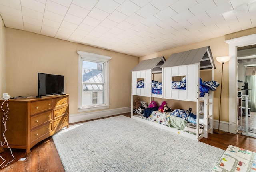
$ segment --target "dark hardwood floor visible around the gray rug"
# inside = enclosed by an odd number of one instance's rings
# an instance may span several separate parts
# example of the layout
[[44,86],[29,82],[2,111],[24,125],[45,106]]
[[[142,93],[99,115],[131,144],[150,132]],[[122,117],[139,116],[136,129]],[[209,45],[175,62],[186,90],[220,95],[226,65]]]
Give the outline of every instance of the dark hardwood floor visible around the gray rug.
[[[130,117],[130,113],[121,115]],[[231,144],[256,152],[256,139],[241,134],[208,134],[208,138],[202,138],[200,142],[204,142],[223,150],[226,150]],[[15,156],[15,160],[8,164],[8,166],[1,168],[1,172],[65,172],[52,137],[36,144],[36,146],[31,149],[31,154],[28,155],[24,161],[18,161],[20,158],[25,157],[24,150],[12,149],[12,152]],[[72,152],[70,152],[70,154],[72,154]],[[0,156],[6,159],[6,163],[12,160],[10,151],[6,148]],[[3,160],[0,158],[0,164],[2,164],[2,162]],[[3,166],[4,164],[2,164],[1,167]]]

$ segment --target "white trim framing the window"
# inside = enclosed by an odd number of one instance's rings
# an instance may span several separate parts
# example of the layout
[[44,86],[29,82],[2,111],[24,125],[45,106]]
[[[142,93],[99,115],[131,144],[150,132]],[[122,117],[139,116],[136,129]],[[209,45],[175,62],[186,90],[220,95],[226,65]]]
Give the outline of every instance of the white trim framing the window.
[[[93,111],[99,109],[107,109],[110,107],[109,105],[109,61],[112,57],[98,55],[93,53],[87,53],[84,51],[76,51],[78,53],[78,112],[85,112],[85,111]],[[104,63],[104,78],[106,79],[106,87],[104,87],[104,105],[99,106],[92,106],[92,107],[82,107],[82,88],[83,83],[82,81],[82,67],[83,67],[83,60],[94,61],[99,63]]]

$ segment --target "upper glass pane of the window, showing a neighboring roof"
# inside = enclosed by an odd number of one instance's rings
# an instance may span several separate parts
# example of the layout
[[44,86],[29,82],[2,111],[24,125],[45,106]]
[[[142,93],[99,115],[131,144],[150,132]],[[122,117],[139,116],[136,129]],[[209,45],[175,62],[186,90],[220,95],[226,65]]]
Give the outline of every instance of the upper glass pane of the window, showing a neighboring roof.
[[103,83],[103,63],[83,61],[83,82]]

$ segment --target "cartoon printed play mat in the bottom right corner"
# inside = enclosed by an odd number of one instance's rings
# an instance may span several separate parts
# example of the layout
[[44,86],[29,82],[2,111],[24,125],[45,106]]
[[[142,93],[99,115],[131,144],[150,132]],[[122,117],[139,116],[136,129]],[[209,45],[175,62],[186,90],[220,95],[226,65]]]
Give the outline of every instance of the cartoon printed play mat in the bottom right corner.
[[256,172],[256,153],[229,145],[212,172]]

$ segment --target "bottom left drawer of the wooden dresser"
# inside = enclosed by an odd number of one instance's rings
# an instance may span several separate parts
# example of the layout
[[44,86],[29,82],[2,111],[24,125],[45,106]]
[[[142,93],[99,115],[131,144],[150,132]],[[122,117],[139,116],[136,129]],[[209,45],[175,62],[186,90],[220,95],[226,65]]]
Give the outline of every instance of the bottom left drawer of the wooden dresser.
[[[40,139],[46,134],[50,134],[52,132],[52,122],[46,125],[43,125],[42,127],[36,129],[36,130],[31,130],[30,132],[30,144],[33,143],[34,141]],[[49,135],[50,136],[50,135]]]

